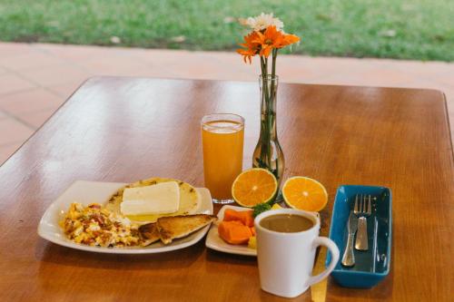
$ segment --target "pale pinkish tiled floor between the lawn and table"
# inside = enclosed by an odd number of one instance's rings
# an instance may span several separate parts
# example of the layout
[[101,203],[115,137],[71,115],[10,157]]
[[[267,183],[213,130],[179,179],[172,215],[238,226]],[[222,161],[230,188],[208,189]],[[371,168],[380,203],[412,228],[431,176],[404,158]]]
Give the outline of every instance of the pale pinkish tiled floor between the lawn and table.
[[[454,119],[454,63],[282,55],[278,68],[281,82],[439,89]],[[88,77],[257,81],[258,70],[234,52],[0,43],[0,163]]]

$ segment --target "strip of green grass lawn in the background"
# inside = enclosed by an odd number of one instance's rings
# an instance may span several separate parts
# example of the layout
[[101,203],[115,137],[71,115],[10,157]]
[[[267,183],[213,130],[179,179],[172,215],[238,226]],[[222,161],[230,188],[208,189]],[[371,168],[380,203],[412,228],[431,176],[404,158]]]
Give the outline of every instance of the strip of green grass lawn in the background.
[[232,51],[262,11],[294,54],[454,61],[452,0],[0,0],[0,40]]

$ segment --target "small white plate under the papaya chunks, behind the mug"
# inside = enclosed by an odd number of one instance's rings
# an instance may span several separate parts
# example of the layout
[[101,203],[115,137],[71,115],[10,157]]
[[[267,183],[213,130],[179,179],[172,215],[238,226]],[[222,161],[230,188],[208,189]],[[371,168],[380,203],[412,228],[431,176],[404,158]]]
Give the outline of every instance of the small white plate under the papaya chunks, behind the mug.
[[245,256],[257,256],[257,249],[248,248],[248,246],[244,245],[232,245],[219,237],[218,234],[218,223],[224,219],[224,211],[225,209],[234,209],[234,210],[251,210],[248,208],[242,207],[235,207],[235,206],[223,206],[218,213],[218,221],[212,223],[212,228],[208,231],[208,236],[205,240],[205,246],[207,248],[212,248],[215,250],[219,250],[225,253],[230,254],[237,254],[237,255],[245,255]]

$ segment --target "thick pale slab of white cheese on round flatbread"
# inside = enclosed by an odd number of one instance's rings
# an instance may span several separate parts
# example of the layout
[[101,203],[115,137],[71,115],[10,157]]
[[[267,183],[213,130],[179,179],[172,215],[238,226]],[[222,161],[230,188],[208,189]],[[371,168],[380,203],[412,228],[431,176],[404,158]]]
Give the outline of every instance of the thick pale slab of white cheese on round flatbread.
[[180,206],[180,188],[176,181],[152,186],[126,188],[120,209],[123,215],[168,214]]

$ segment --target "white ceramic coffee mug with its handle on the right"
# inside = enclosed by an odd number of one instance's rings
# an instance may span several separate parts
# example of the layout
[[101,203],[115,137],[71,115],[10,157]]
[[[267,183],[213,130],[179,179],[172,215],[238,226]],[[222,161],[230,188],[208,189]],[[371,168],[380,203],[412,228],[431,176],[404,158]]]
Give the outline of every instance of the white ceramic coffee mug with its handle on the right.
[[[262,219],[291,214],[311,219],[311,229],[299,232],[277,232],[261,226]],[[254,221],[257,232],[257,258],[260,283],[264,291],[281,297],[297,297],[312,284],[330,275],[339,260],[339,248],[331,240],[319,237],[320,219],[314,213],[298,209],[274,209],[260,214]],[[315,251],[325,246],[331,252],[330,266],[311,276]]]

